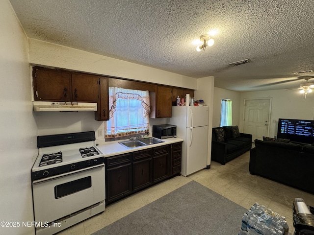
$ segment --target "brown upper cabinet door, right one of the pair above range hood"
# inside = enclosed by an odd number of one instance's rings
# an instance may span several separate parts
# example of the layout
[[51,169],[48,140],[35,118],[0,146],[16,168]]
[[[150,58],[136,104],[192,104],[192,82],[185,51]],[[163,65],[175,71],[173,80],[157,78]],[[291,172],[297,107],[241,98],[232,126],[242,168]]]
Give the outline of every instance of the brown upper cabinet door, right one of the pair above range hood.
[[72,74],[72,99],[77,102],[97,102],[99,76]]

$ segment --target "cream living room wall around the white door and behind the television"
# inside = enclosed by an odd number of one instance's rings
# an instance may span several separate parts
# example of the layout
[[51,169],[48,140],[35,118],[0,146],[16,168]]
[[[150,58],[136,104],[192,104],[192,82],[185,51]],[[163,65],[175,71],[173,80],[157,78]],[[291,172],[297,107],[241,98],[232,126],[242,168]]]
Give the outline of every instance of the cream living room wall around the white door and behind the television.
[[[265,97],[272,97],[269,137],[277,135],[278,118],[314,119],[314,94],[308,94],[305,99],[298,90],[272,90],[241,93],[240,120],[243,120],[244,99]],[[242,124],[240,121],[240,128],[242,128]]]

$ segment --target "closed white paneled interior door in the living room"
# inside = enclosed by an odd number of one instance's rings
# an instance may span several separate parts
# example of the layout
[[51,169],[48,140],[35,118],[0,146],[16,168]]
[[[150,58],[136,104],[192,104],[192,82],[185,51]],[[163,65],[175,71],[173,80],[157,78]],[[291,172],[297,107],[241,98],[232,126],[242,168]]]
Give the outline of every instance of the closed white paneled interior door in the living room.
[[252,134],[252,141],[268,135],[270,99],[247,99],[244,104],[243,133]]

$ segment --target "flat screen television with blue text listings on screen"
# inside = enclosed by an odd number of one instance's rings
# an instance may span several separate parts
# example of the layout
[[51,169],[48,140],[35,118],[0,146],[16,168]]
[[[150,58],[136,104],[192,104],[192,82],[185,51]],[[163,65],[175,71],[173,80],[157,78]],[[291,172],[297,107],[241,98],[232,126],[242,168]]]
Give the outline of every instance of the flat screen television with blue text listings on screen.
[[313,143],[314,120],[279,118],[277,138],[301,143]]

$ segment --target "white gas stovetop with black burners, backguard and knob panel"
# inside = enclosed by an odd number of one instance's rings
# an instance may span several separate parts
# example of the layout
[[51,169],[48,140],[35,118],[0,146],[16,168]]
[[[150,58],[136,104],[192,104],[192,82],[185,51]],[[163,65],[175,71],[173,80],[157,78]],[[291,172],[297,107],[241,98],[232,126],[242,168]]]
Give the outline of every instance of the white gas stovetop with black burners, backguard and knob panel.
[[95,144],[94,131],[38,136],[37,147],[32,181],[104,163],[104,154]]

